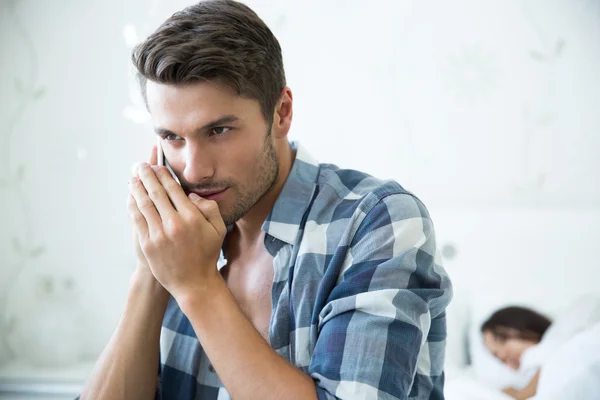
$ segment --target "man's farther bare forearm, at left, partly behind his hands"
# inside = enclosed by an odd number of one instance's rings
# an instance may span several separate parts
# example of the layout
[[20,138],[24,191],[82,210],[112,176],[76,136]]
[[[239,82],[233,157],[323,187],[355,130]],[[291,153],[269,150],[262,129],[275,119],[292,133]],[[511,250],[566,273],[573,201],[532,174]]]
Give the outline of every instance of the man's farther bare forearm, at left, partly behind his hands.
[[81,399],[154,399],[162,319],[169,299],[158,282],[136,271],[125,310]]

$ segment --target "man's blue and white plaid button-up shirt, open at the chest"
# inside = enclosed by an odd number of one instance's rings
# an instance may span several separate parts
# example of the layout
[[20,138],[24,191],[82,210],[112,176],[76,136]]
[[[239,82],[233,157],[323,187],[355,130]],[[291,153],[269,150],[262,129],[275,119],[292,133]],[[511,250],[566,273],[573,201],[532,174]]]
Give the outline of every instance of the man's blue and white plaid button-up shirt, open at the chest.
[[[292,146],[262,227],[274,257],[271,347],[314,379],[319,399],[443,399],[452,289],[427,210],[396,182]],[[230,399],[172,298],[160,352],[158,399]]]

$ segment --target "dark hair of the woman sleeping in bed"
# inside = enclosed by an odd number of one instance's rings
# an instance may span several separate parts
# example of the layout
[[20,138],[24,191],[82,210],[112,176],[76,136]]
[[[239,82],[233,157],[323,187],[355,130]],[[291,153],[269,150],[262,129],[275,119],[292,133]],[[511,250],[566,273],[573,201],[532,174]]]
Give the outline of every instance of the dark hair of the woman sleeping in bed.
[[524,307],[506,307],[496,311],[481,326],[481,332],[490,332],[497,339],[524,339],[539,342],[552,321],[542,314]]

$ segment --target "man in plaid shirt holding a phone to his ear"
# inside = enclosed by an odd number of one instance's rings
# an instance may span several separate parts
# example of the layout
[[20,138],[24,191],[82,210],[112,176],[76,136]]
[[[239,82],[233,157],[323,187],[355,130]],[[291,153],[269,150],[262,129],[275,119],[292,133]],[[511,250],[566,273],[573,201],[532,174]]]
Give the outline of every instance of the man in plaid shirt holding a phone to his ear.
[[429,215],[288,142],[264,22],[201,2],[133,62],[181,186],[156,150],[130,182],[138,266],[82,398],[442,399],[451,286]]

